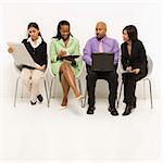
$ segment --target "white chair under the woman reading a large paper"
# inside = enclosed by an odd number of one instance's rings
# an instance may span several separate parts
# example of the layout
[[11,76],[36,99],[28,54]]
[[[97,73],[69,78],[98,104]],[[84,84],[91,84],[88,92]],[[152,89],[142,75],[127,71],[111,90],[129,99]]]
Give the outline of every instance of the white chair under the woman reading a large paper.
[[[22,67],[20,66],[16,66],[14,65],[16,72],[18,73],[18,77],[16,78],[16,86],[15,86],[15,95],[14,95],[14,108],[16,106],[16,98],[17,98],[17,87],[18,87],[18,83],[20,83],[20,79],[21,79],[21,71],[22,71]],[[47,102],[48,102],[48,86],[47,86],[47,72],[48,72],[48,66],[41,77],[41,79],[43,80],[43,85],[45,85],[45,90],[46,90],[46,98],[47,98]],[[22,95],[21,95],[21,98],[23,98],[23,86],[22,86]]]

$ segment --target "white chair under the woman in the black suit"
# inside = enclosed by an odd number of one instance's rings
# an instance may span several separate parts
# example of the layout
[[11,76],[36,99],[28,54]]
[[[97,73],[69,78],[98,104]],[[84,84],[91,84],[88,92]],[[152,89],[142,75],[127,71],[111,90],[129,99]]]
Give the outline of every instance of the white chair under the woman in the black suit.
[[[153,109],[152,87],[151,87],[151,79],[150,79],[150,76],[151,76],[151,73],[152,73],[152,68],[153,68],[153,62],[152,62],[152,60],[151,60],[151,58],[149,55],[147,55],[147,61],[148,61],[148,74],[147,74],[146,77],[143,77],[139,82],[141,82],[141,80],[143,82],[143,97],[145,97],[145,83],[148,82],[148,84],[149,84],[149,92],[150,92],[151,109]],[[121,62],[118,63],[118,71],[120,71],[121,74],[123,74],[123,72],[124,72]],[[120,93],[118,93],[118,98],[117,98],[117,108],[118,108],[120,99],[121,99],[121,96],[122,96],[122,89],[123,89],[123,80],[121,80],[121,84],[120,84]]]

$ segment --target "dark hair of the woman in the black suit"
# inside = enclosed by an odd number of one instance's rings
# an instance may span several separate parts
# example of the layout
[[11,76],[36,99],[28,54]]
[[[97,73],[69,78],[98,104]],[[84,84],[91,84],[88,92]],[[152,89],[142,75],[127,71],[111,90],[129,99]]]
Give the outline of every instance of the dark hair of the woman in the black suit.
[[131,41],[136,41],[138,40],[138,32],[137,32],[137,28],[136,26],[134,25],[127,25],[124,29],[123,29],[123,33],[124,30],[127,32],[128,34],[128,37]]

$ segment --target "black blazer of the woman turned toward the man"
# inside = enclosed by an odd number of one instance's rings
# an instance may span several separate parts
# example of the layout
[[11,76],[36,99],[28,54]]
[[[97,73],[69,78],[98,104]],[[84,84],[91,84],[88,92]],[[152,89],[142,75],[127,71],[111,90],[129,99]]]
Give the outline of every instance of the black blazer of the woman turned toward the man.
[[146,49],[140,40],[131,43],[131,54],[128,54],[127,43],[121,45],[122,51],[122,64],[123,68],[126,70],[127,66],[133,68],[140,68],[140,73],[147,74],[147,54]]

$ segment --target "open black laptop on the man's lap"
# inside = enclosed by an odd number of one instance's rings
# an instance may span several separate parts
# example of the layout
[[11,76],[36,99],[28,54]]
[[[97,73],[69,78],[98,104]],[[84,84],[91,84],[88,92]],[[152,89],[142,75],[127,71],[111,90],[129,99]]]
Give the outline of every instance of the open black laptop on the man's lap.
[[92,71],[110,72],[114,70],[114,53],[97,52],[92,53]]

